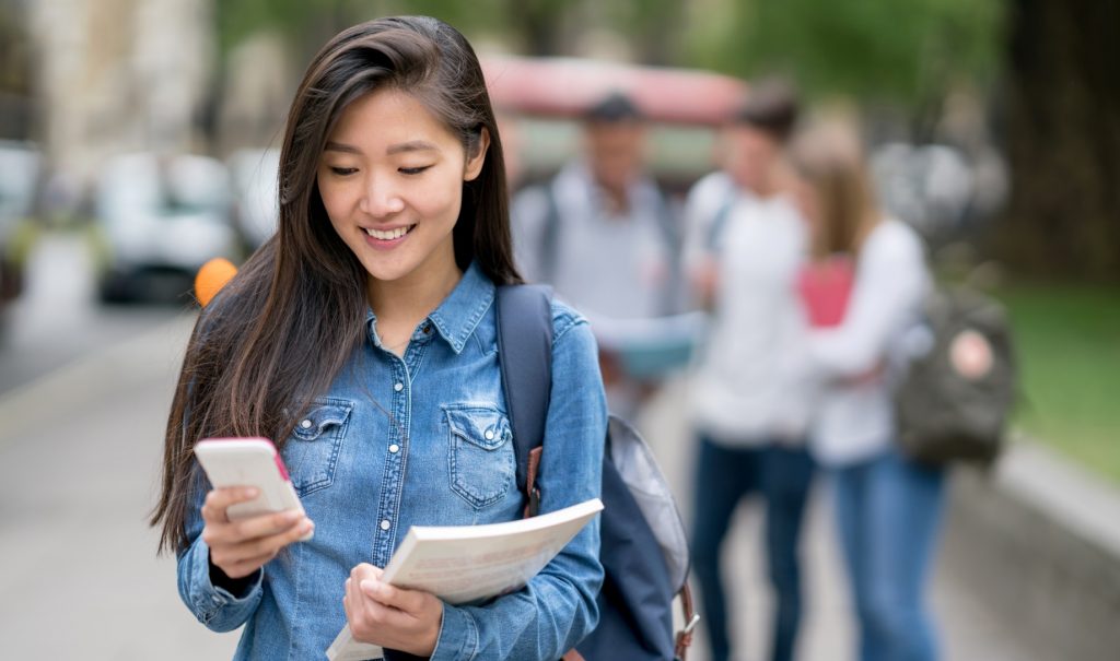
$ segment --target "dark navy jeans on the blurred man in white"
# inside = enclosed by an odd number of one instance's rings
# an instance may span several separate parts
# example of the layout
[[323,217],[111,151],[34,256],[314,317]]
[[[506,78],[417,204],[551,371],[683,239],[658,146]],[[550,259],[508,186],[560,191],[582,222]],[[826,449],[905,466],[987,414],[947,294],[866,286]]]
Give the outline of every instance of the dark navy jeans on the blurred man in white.
[[700,582],[700,616],[708,632],[711,661],[726,661],[730,654],[720,547],[739,501],[756,492],[766,503],[766,560],[777,603],[771,659],[793,659],[801,623],[799,540],[813,472],[813,461],[804,447],[727,447],[700,436],[692,569]]

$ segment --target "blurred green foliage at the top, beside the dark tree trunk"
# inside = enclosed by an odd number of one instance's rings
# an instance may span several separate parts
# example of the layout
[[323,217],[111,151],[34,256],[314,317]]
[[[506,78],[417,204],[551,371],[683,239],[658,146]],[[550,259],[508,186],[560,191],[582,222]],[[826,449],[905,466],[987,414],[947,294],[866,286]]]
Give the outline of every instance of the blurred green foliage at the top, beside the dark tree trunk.
[[998,0],[732,0],[687,36],[690,64],[778,72],[816,95],[918,103],[982,83],[999,55]]

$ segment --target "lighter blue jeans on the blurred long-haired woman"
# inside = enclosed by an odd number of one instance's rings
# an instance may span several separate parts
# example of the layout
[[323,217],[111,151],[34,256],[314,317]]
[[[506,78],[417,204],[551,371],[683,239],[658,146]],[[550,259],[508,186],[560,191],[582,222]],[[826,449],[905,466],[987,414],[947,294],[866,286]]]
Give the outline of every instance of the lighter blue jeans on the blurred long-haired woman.
[[890,450],[838,469],[837,521],[859,618],[860,661],[933,661],[925,586],[944,502],[944,471]]

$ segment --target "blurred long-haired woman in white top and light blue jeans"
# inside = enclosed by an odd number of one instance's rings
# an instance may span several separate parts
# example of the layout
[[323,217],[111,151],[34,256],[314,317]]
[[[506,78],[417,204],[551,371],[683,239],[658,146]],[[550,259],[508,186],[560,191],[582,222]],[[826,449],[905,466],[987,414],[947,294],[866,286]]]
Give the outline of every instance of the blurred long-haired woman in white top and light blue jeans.
[[836,484],[859,659],[932,661],[937,644],[925,586],[944,475],[899,453],[892,407],[902,336],[918,321],[931,283],[922,242],[876,207],[855,131],[830,124],[799,136],[792,163],[814,258],[843,255],[855,264],[842,319],[814,329],[809,348],[824,381],[811,443]]

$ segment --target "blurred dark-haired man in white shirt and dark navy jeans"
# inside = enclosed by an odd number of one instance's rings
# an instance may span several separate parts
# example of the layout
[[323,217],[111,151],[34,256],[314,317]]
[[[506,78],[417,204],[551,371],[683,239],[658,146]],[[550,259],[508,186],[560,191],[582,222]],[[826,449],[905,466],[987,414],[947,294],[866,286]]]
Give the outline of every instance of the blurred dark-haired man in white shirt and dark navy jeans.
[[805,321],[796,277],[808,230],[786,193],[793,89],[753,89],[725,126],[724,168],[689,193],[685,268],[711,328],[691,391],[698,437],[692,517],[712,661],[730,655],[720,551],[747,497],[765,502],[765,544],[777,612],[771,659],[788,661],[801,622],[800,539],[814,473],[805,448]]

